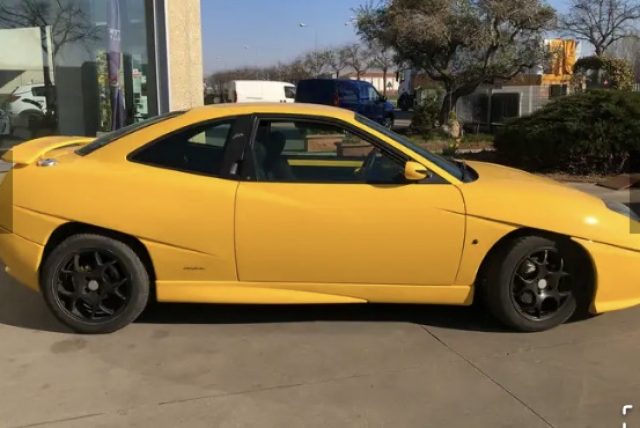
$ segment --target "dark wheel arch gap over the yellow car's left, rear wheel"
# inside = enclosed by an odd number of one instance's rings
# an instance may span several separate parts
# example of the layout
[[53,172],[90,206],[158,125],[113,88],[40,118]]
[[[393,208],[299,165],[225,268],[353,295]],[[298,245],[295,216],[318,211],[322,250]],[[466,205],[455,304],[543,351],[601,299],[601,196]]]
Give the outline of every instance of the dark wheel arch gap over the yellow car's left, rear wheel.
[[[128,235],[126,233],[117,232],[112,229],[106,229],[99,226],[93,226],[86,223],[79,222],[69,222],[64,223],[58,226],[53,233],[49,236],[47,243],[44,246],[44,250],[42,252],[42,258],[40,260],[40,266],[38,267],[38,275],[40,275],[42,271],[42,266],[44,265],[47,257],[51,252],[60,245],[65,239],[79,234],[95,234],[102,235],[108,238],[115,239],[117,241],[123,242],[140,257],[140,261],[144,264],[147,269],[147,273],[149,274],[149,280],[151,281],[151,291],[155,293],[155,282],[156,282],[156,273],[153,265],[153,260],[151,258],[151,254],[147,247],[140,241],[138,238],[132,235]],[[152,295],[155,298],[155,294]]]

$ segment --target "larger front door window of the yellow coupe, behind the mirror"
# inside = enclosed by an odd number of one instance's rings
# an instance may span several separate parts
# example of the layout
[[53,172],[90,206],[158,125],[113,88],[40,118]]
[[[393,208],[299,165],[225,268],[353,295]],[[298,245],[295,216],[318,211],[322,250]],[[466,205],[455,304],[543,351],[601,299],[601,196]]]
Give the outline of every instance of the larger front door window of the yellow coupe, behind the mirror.
[[404,162],[333,124],[262,120],[253,144],[258,181],[404,182]]

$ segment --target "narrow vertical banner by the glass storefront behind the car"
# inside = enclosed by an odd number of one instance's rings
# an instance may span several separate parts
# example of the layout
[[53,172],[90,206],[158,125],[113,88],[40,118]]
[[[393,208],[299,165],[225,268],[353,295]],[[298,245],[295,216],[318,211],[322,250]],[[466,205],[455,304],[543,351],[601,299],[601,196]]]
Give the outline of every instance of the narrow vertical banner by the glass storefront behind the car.
[[124,93],[120,84],[120,65],[122,63],[122,32],[120,20],[120,0],[107,2],[107,68],[111,93],[111,129],[122,128],[126,123]]

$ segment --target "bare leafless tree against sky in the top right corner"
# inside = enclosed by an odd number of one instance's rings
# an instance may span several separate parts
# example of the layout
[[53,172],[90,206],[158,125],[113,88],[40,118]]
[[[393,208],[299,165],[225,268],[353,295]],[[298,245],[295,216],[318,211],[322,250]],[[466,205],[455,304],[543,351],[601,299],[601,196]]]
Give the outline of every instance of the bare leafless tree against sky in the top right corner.
[[602,56],[617,41],[637,34],[639,0],[571,0],[560,29],[589,42]]

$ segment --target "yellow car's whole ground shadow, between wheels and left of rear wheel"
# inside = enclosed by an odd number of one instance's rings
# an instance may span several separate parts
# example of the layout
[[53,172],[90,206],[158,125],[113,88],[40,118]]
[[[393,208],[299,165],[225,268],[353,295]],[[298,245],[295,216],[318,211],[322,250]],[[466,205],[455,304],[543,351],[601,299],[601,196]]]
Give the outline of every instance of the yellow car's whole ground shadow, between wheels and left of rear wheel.
[[[1,269],[0,272],[0,325],[54,333],[71,332],[51,314],[40,293],[18,284]],[[408,322],[452,330],[510,332],[479,305],[212,305],[152,302],[136,322],[215,325],[314,321]]]

